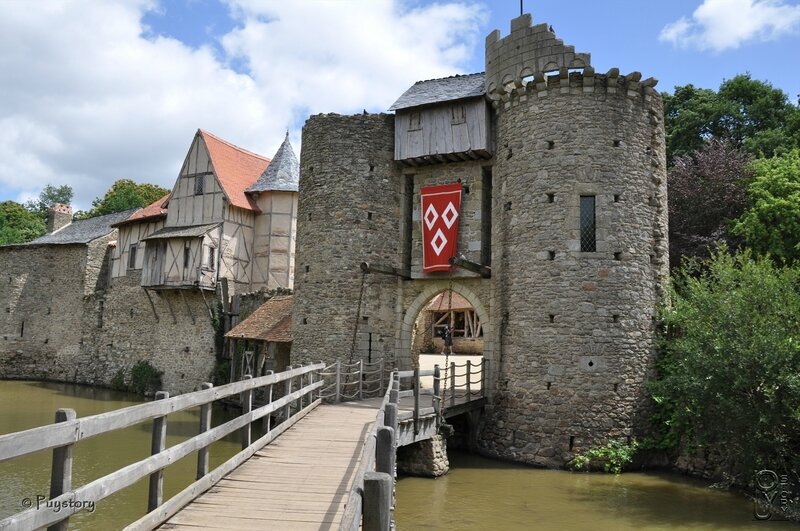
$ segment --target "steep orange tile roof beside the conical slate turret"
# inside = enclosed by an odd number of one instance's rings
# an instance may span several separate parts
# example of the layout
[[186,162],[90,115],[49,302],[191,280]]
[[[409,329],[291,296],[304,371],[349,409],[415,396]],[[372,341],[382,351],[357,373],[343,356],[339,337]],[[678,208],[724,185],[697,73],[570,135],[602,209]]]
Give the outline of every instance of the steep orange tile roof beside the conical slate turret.
[[256,202],[244,191],[267,169],[270,159],[234,146],[208,131],[198,129],[197,133],[206,143],[214,172],[231,204],[258,212]]

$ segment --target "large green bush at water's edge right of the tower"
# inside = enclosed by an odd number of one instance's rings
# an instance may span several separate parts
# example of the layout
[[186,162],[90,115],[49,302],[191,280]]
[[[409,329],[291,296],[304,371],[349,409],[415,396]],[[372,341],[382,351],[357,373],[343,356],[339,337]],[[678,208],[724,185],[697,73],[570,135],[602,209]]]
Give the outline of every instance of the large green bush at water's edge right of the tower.
[[[675,275],[650,389],[663,441],[715,449],[739,481],[800,471],[800,270],[724,248]],[[795,476],[795,479],[800,479]]]

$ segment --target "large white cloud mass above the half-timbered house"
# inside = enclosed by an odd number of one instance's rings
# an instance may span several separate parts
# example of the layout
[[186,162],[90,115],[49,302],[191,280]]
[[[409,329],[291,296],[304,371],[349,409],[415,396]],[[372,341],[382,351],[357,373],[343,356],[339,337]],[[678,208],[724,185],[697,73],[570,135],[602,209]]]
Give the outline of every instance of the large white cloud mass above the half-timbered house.
[[381,111],[415,80],[459,72],[485,17],[402,0],[230,7],[219,57],[145,38],[154,0],[0,2],[0,190],[70,184],[88,208],[119,178],[171,187],[198,127],[271,156],[307,113]]

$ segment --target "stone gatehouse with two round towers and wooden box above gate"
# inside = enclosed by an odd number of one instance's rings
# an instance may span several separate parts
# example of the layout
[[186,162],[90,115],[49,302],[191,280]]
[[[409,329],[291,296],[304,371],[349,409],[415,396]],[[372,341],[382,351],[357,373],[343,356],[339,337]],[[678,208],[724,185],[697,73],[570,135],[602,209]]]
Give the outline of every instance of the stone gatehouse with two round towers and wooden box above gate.
[[[300,170],[292,362],[384,357],[447,289],[489,361],[486,454],[560,466],[644,426],[668,273],[654,79],[598,74],[530,15],[486,39],[486,72],[420,81],[395,115],[318,115]],[[425,273],[420,189],[462,185],[459,255]],[[361,262],[392,274],[364,274]]]

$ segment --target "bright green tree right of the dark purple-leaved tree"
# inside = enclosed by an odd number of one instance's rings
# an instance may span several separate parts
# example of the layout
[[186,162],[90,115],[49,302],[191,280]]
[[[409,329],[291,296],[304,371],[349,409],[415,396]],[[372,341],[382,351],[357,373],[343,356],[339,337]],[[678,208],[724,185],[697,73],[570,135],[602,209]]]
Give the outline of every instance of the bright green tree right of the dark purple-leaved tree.
[[748,247],[784,262],[800,258],[800,149],[750,164],[750,207],[732,232]]

